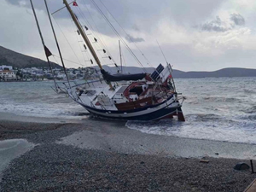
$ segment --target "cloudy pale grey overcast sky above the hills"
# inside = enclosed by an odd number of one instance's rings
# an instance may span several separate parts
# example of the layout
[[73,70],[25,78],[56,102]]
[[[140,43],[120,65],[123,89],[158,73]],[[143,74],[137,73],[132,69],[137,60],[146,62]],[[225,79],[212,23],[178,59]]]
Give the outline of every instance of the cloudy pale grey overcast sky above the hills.
[[[167,61],[178,70],[256,68],[255,0],[95,0],[95,2],[144,67],[157,67],[159,63],[166,63],[157,44],[158,41]],[[33,0],[33,3],[45,44],[54,55],[58,55],[44,0]],[[62,0],[48,0],[48,3],[51,13],[63,7]],[[119,65],[119,38],[91,0],[77,0],[77,3],[79,7],[72,6],[72,9],[80,22],[89,28],[86,33],[102,63],[111,64],[115,61]],[[0,9],[0,45],[45,60],[29,0],[1,0]],[[68,60],[67,67],[89,67],[91,55],[84,50],[82,39],[76,32],[77,28],[67,9],[62,9],[53,15],[53,18],[63,57]],[[97,39],[97,43],[94,38]],[[131,43],[132,41],[136,42],[136,45]],[[139,66],[125,49],[125,44],[121,44],[121,48],[126,66]],[[109,52],[104,54],[102,49]],[[108,55],[111,55],[112,61],[109,61]],[[50,60],[55,61],[55,58],[51,57]]]

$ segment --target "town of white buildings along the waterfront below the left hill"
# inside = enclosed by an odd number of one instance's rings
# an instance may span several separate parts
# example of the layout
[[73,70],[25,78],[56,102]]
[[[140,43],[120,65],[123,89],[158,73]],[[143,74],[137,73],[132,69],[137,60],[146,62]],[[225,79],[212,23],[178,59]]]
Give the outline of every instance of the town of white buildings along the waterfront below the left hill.
[[[96,69],[93,67],[68,68],[69,79],[94,79],[98,77]],[[62,68],[30,67],[15,68],[12,66],[0,66],[0,81],[42,81],[51,79],[65,80],[66,75]]]

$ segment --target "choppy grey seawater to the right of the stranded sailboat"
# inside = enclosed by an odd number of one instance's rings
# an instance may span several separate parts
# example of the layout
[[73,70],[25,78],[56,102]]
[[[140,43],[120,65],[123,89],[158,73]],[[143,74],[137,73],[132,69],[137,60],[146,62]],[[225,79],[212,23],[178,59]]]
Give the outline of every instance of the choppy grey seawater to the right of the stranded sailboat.
[[126,126],[150,134],[256,143],[256,78],[176,79],[185,122],[128,121]]

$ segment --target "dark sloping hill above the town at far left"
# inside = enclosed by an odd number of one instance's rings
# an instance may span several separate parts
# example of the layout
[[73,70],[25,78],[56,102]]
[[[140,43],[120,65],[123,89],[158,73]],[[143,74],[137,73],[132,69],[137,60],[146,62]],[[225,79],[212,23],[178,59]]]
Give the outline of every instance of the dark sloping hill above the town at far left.
[[[60,68],[61,66],[51,63],[52,67]],[[12,66],[19,68],[26,67],[49,67],[48,62],[34,58],[28,55],[22,55],[13,50],[0,46],[0,66]]]

